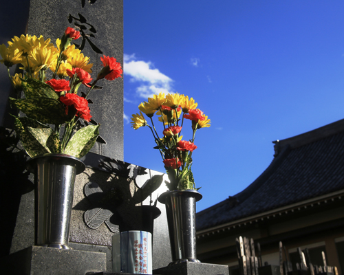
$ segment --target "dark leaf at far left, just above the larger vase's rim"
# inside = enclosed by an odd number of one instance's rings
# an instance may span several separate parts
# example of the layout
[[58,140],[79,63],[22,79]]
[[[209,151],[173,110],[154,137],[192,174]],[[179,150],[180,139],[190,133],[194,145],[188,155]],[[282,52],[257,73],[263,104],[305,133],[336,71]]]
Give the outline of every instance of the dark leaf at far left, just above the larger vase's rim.
[[34,135],[30,133],[28,130],[28,127],[30,126],[47,129],[47,126],[34,120],[30,120],[30,118],[15,118],[14,128],[28,155],[30,155],[30,157],[34,157],[35,155],[50,153],[50,150],[43,146],[38,140],[36,140]]

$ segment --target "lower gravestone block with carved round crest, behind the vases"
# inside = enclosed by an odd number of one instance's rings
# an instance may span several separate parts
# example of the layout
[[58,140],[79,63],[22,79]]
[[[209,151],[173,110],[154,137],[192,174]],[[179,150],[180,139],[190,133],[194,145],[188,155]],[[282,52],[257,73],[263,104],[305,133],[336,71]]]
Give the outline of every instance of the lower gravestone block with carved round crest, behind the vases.
[[[90,250],[107,252],[107,262],[111,266],[111,236],[114,234],[107,228],[105,223],[96,230],[89,228],[83,218],[85,211],[95,207],[106,207],[116,213],[111,217],[111,223],[123,226],[125,230],[138,230],[142,225],[141,210],[131,203],[131,197],[138,187],[155,174],[156,171],[140,168],[143,175],[138,175],[133,181],[134,173],[137,173],[138,166],[127,164],[89,153],[85,158],[87,168],[76,176],[74,186],[74,199],[72,218],[69,228],[69,242],[72,248],[77,250]],[[89,166],[95,166],[95,168]],[[112,172],[112,173],[111,173]],[[33,180],[33,175],[30,176]],[[85,197],[83,188],[89,181],[96,182],[104,191],[116,190],[115,194],[120,194],[121,199],[110,199],[100,201],[100,204],[92,204],[92,201]],[[155,201],[158,195],[166,191],[164,183],[153,192],[151,198]],[[143,201],[144,205],[149,205],[150,197]],[[113,201],[112,201],[113,200]],[[113,203],[112,203],[113,202]],[[166,211],[162,203],[157,203],[162,214],[154,220],[153,231],[153,269],[164,267],[171,262],[171,250],[169,244],[169,232],[166,221]],[[18,252],[34,245],[34,191],[26,193],[21,197],[21,203],[17,215],[17,223],[14,228],[14,236],[10,253]]]

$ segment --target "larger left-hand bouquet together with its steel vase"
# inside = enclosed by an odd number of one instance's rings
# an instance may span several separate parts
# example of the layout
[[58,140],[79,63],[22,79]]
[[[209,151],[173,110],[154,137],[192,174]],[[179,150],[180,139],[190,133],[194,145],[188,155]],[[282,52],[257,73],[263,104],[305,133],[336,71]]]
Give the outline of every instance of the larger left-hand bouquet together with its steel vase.
[[[68,249],[74,181],[83,172],[80,161],[94,146],[99,124],[92,120],[90,91],[103,78],[114,80],[122,69],[116,59],[103,56],[103,69],[92,82],[92,64],[71,42],[80,32],[67,28],[56,47],[50,39],[14,36],[8,47],[0,45],[0,60],[17,90],[10,98],[18,115],[14,128],[23,148],[32,157],[27,169],[35,172],[35,244]],[[23,74],[10,76],[10,67],[21,64]],[[79,91],[83,85],[87,93]],[[21,98],[21,92],[25,98]],[[78,95],[79,94],[79,95]]]

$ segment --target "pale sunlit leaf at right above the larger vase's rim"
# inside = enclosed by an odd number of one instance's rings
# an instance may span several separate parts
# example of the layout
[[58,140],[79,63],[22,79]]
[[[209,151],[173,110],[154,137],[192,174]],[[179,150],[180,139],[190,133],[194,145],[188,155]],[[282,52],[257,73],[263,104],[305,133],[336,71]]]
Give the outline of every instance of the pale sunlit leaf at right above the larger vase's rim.
[[65,154],[83,157],[94,146],[98,135],[99,125],[89,125],[76,131],[65,147]]

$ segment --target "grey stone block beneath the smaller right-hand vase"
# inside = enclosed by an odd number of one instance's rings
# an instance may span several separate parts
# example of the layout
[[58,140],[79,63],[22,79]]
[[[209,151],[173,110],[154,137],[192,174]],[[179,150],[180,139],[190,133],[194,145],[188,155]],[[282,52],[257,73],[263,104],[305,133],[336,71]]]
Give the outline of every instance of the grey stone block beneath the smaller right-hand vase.
[[153,270],[160,275],[229,275],[228,265],[213,265],[212,263],[184,262]]

